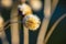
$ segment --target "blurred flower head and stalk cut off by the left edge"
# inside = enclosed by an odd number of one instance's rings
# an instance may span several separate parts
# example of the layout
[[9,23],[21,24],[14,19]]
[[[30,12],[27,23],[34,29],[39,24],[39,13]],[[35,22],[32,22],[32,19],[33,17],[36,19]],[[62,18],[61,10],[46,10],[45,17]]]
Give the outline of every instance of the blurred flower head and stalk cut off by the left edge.
[[6,32],[4,32],[4,21],[2,19],[2,16],[0,15],[0,38],[2,41],[2,44],[9,44],[7,36],[6,36]]

